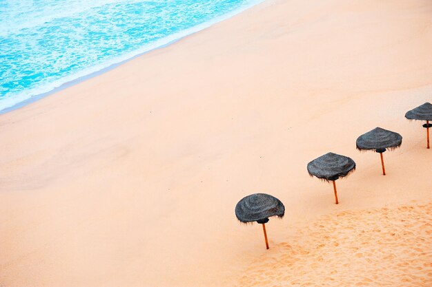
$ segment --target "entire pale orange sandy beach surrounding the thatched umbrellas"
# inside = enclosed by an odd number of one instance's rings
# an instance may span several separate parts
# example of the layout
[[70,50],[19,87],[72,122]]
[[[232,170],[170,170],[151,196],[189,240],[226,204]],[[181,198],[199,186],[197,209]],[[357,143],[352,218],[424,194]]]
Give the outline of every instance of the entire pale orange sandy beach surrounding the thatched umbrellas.
[[[0,286],[432,286],[432,2],[268,0],[0,115]],[[355,149],[375,127],[402,147]],[[331,184],[306,164],[357,164]],[[240,224],[238,200],[286,213]]]

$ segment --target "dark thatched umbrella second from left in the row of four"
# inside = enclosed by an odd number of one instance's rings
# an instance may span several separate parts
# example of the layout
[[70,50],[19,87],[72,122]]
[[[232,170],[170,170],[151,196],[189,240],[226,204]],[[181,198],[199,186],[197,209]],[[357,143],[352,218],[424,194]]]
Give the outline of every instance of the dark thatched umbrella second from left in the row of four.
[[339,202],[337,200],[335,180],[348,176],[353,171],[355,171],[354,160],[336,153],[326,153],[324,156],[320,156],[308,163],[308,173],[310,176],[316,176],[327,182],[333,182],[336,204],[339,204]]

